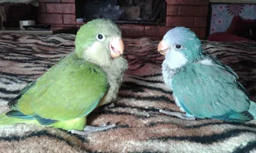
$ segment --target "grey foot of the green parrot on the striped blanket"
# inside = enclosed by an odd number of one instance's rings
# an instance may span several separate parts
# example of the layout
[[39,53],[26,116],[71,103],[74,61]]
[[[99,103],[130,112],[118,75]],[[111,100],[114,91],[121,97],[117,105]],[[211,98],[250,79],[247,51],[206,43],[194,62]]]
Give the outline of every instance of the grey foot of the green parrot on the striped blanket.
[[77,134],[77,135],[88,135],[90,133],[94,133],[97,131],[104,131],[107,129],[115,128],[116,124],[110,124],[110,125],[102,125],[102,126],[85,126],[83,131],[72,129],[70,132],[72,134]]

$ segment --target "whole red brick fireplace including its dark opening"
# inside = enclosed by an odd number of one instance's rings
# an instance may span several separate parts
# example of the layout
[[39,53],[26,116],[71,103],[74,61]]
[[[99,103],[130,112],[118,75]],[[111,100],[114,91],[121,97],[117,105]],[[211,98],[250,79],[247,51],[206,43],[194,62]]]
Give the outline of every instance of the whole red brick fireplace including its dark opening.
[[[88,13],[85,9],[88,7],[86,4],[90,4],[88,2],[93,3],[93,0],[37,1],[39,3],[38,24],[51,24],[52,27],[76,26],[79,29],[81,25],[86,24],[88,20],[92,20],[93,18],[92,12],[90,11]],[[95,3],[93,4],[96,6],[105,6],[107,8],[106,11],[108,8],[116,7],[117,12],[120,12],[120,17],[116,17],[118,20],[115,20],[115,22],[122,30],[122,36],[124,37],[147,37],[152,40],[161,40],[163,35],[173,27],[184,26],[195,31],[199,38],[205,39],[209,0],[108,1],[99,0],[94,1]],[[150,2],[150,5],[148,5],[148,2]],[[90,7],[88,7],[89,10]],[[122,9],[128,12],[125,13],[125,16],[122,14]],[[129,10],[135,11],[136,13],[132,14],[131,17]],[[86,17],[86,15],[89,17]]]

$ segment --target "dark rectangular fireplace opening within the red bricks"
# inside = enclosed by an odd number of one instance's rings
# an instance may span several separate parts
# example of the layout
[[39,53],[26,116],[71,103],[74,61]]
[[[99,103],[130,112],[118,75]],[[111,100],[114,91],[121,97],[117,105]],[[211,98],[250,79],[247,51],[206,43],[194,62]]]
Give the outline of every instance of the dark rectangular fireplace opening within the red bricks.
[[109,18],[117,24],[165,25],[165,0],[76,0],[77,22]]

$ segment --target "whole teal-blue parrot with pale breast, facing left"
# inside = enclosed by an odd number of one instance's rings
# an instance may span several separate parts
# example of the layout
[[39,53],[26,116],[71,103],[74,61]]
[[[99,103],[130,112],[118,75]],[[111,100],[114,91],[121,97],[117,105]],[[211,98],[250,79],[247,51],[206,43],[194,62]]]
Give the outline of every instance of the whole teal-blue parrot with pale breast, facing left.
[[219,119],[236,122],[253,120],[256,103],[250,101],[237,74],[209,55],[193,31],[175,27],[160,41],[164,55],[164,83],[173,91],[180,112],[159,110],[180,119]]

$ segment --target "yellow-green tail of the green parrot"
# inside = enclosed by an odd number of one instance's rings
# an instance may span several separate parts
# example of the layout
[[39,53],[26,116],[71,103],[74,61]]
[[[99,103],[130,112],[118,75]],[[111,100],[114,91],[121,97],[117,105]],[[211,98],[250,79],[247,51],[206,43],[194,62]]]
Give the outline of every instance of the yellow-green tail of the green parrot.
[[1,126],[12,126],[19,123],[35,124],[36,120],[18,119],[14,117],[7,117],[5,113],[0,114],[0,127]]

